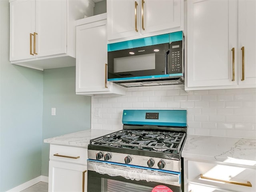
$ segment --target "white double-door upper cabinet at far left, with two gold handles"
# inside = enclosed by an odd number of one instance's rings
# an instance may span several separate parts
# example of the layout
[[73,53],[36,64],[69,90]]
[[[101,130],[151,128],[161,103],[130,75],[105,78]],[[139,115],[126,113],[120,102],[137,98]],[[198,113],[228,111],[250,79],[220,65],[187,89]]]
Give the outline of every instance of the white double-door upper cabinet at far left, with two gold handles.
[[75,66],[74,22],[93,15],[93,7],[87,0],[10,1],[11,63],[39,70]]

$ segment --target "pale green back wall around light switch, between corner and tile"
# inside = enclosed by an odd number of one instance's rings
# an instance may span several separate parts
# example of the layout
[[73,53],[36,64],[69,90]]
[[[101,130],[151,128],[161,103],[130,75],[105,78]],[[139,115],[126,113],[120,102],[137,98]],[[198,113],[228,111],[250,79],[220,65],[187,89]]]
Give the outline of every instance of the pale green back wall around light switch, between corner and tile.
[[[75,67],[44,70],[42,139],[90,129],[91,97],[76,95]],[[56,108],[56,116],[51,115]],[[43,142],[43,141],[42,141]],[[42,144],[42,175],[48,176],[50,144]]]

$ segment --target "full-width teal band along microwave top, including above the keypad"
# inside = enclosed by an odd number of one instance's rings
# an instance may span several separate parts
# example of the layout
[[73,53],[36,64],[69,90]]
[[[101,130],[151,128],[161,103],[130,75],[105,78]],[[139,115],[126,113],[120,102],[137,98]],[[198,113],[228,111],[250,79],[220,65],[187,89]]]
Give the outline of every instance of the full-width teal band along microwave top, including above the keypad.
[[170,43],[174,41],[180,41],[183,39],[183,32],[174,32],[169,34],[156,35],[151,37],[145,37],[140,39],[128,40],[123,42],[108,44],[108,52],[125,50],[137,47],[151,46],[163,43]]

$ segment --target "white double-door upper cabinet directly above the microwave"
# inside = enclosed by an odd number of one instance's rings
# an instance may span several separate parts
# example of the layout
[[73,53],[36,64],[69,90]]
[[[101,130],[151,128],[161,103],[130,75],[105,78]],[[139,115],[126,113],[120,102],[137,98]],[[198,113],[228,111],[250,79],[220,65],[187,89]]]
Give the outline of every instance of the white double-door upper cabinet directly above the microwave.
[[184,29],[183,0],[107,0],[107,12],[109,41]]

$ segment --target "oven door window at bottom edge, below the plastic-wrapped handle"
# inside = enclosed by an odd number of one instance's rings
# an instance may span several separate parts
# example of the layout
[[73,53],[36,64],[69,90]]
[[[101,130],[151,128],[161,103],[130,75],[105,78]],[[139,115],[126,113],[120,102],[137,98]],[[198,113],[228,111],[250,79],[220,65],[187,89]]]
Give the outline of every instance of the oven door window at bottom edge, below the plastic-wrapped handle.
[[101,192],[152,192],[151,187],[102,178]]

